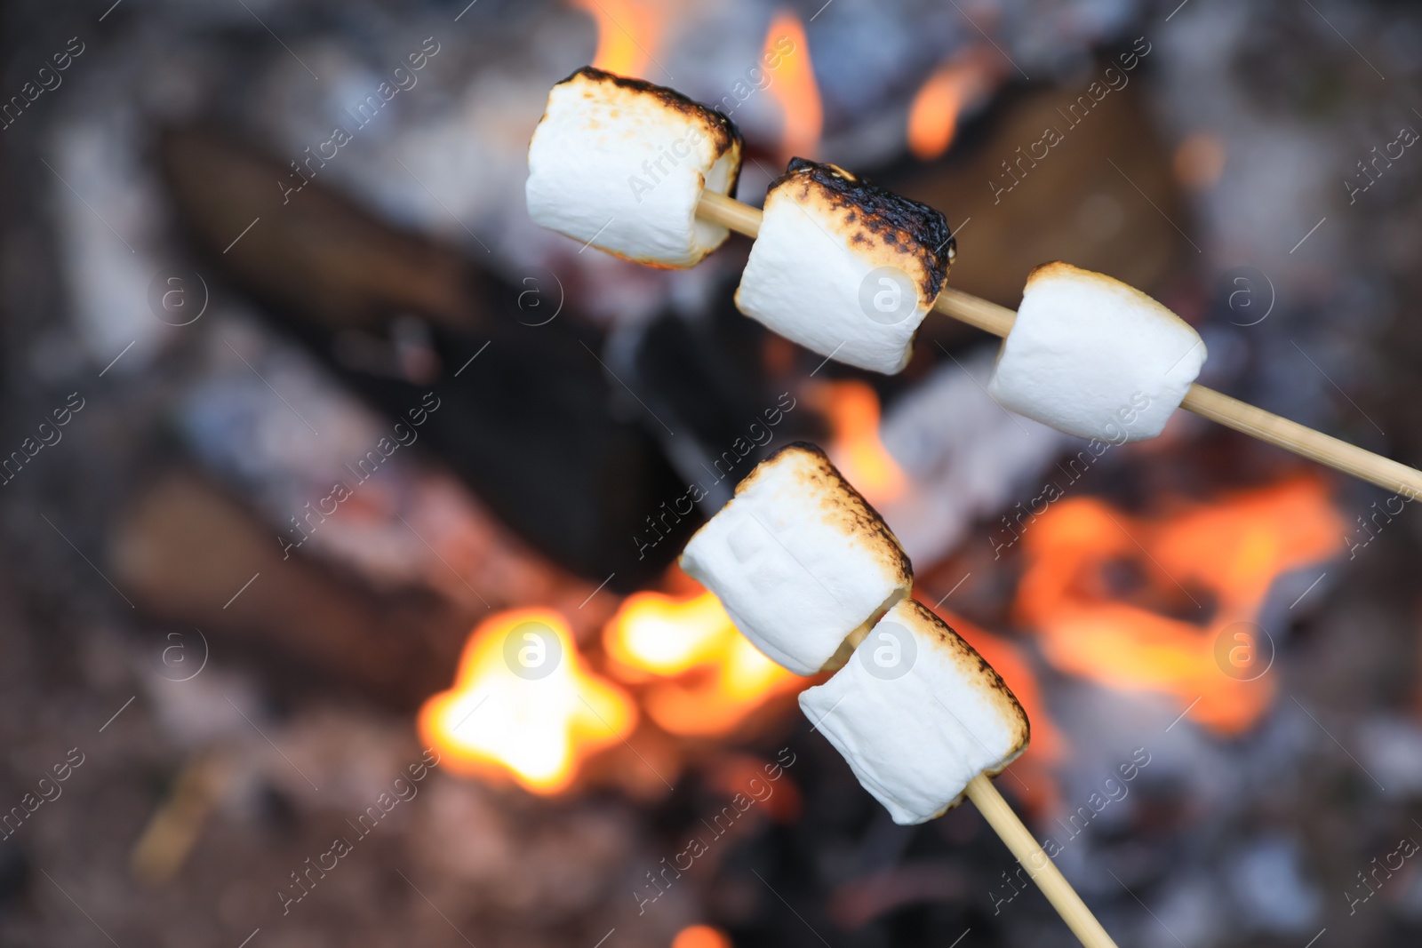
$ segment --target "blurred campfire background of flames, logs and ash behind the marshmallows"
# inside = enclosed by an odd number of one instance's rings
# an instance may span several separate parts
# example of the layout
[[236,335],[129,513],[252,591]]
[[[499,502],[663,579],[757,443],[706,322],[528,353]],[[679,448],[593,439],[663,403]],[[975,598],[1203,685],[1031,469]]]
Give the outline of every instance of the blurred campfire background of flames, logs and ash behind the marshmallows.
[[954,286],[1111,273],[1206,384],[1416,463],[1415,7],[17,0],[0,44],[0,942],[1071,944],[675,570],[796,438],[1027,706],[998,785],[1121,944],[1422,934],[1408,505],[1193,416],[1082,453],[941,318],[822,364],[735,313],[747,242],[651,271],[522,199],[549,87],[640,75],[741,125],[744,200],[842,163]]

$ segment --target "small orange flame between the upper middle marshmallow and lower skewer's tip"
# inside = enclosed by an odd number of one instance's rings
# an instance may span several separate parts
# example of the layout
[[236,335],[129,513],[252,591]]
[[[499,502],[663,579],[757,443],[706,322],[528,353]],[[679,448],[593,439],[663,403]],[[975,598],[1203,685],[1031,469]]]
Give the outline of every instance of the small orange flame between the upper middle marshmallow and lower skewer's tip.
[[870,505],[886,505],[907,486],[893,455],[879,439],[879,395],[863,381],[813,382],[806,399],[829,419],[825,453]]

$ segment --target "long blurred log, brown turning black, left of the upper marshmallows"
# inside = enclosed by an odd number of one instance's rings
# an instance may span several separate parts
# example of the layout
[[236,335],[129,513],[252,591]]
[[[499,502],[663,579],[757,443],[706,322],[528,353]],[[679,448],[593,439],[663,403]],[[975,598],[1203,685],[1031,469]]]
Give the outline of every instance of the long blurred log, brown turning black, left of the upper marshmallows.
[[[283,205],[272,188],[286,173],[280,162],[202,128],[168,131],[161,158],[196,247],[351,391],[395,418],[434,392],[445,408],[421,429],[424,443],[515,533],[593,583],[616,573],[616,591],[661,574],[700,517],[674,526],[673,543],[633,544],[654,499],[685,490],[685,480],[654,435],[611,405],[621,388],[593,358],[602,337],[573,306],[547,325],[520,321],[529,318],[525,284],[402,233],[317,181]],[[223,253],[253,215],[260,223]],[[546,293],[552,313],[555,290]],[[343,343],[357,333],[390,348],[377,334],[394,335],[410,314],[432,324],[437,378],[347,358]]]

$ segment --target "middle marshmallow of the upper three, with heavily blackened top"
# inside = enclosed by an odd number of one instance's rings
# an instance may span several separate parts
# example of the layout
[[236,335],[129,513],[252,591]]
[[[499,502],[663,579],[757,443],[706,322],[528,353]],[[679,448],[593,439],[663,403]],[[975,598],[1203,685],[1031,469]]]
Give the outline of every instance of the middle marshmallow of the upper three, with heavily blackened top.
[[792,158],[765,195],[735,304],[808,350],[893,375],[954,253],[933,208]]

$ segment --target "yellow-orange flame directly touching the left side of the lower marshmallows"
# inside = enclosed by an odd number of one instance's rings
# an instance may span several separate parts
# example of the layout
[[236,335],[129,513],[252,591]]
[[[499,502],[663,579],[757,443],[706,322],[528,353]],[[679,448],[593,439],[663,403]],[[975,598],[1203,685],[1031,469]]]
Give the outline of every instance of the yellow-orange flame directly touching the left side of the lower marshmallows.
[[603,647],[619,678],[651,682],[647,715],[681,736],[731,733],[766,699],[809,684],[747,641],[711,593],[637,593],[607,624]]

